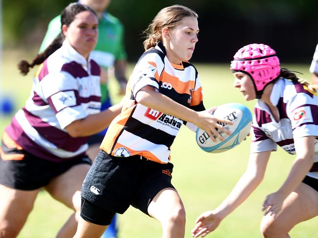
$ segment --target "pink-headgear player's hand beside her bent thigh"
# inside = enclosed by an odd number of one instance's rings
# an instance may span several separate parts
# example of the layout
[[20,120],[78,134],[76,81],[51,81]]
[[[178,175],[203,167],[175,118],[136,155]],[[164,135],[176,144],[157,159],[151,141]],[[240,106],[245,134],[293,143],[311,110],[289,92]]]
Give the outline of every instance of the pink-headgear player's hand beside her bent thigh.
[[275,218],[280,212],[285,198],[286,196],[284,196],[280,192],[275,192],[268,195],[263,203],[262,208],[262,211],[265,211],[264,216],[270,214]]

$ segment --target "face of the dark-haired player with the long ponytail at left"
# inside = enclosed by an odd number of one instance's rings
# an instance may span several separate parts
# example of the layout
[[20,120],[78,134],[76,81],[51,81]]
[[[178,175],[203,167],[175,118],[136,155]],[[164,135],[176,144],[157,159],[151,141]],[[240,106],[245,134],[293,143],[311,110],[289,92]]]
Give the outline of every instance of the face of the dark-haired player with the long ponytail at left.
[[98,37],[98,20],[90,11],[77,14],[74,20],[62,26],[62,31],[68,43],[86,59],[95,48]]

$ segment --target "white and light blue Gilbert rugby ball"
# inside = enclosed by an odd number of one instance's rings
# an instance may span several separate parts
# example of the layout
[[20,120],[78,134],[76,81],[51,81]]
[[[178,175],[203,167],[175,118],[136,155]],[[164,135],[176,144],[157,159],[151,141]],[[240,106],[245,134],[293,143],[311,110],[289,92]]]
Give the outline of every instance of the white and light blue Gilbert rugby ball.
[[204,130],[198,128],[196,131],[196,141],[200,148],[206,152],[220,153],[232,149],[241,143],[250,133],[252,114],[249,108],[243,104],[227,103],[220,105],[212,112],[212,115],[231,120],[233,121],[233,125],[222,123],[222,125],[231,132],[231,135],[227,135],[223,131],[218,130],[225,140],[220,140],[212,133],[216,142],[214,142]]

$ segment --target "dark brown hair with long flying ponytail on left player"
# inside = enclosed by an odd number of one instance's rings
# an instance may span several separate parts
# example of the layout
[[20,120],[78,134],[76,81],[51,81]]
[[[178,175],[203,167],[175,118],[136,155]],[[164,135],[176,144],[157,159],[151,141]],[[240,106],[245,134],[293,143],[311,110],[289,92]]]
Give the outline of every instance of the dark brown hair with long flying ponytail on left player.
[[21,60],[18,63],[18,69],[20,70],[20,73],[23,75],[27,75],[27,73],[29,72],[29,68],[33,68],[34,65],[43,63],[44,60],[47,59],[47,57],[49,57],[57,49],[59,49],[62,46],[63,41],[65,40],[65,37],[62,32],[62,26],[63,25],[69,26],[69,24],[72,23],[72,21],[75,19],[75,16],[84,11],[92,12],[97,18],[97,15],[94,12],[94,10],[92,10],[89,6],[83,5],[78,2],[70,3],[66,8],[64,8],[61,13],[60,34],[52,41],[52,43],[49,46],[46,47],[45,51],[43,51],[41,54],[37,54],[31,63],[28,63],[24,59]]

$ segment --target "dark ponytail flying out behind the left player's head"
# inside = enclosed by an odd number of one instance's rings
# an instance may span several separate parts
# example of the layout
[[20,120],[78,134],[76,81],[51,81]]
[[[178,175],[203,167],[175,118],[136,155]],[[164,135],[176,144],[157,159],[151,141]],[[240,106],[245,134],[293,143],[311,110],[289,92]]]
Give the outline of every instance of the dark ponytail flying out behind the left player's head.
[[52,41],[52,43],[47,46],[45,51],[43,51],[41,54],[37,54],[31,63],[27,62],[24,59],[21,60],[18,63],[18,69],[20,70],[20,73],[25,76],[30,71],[30,68],[33,68],[35,65],[42,64],[45,59],[47,59],[62,46],[64,39],[64,35],[61,31],[60,34]]

